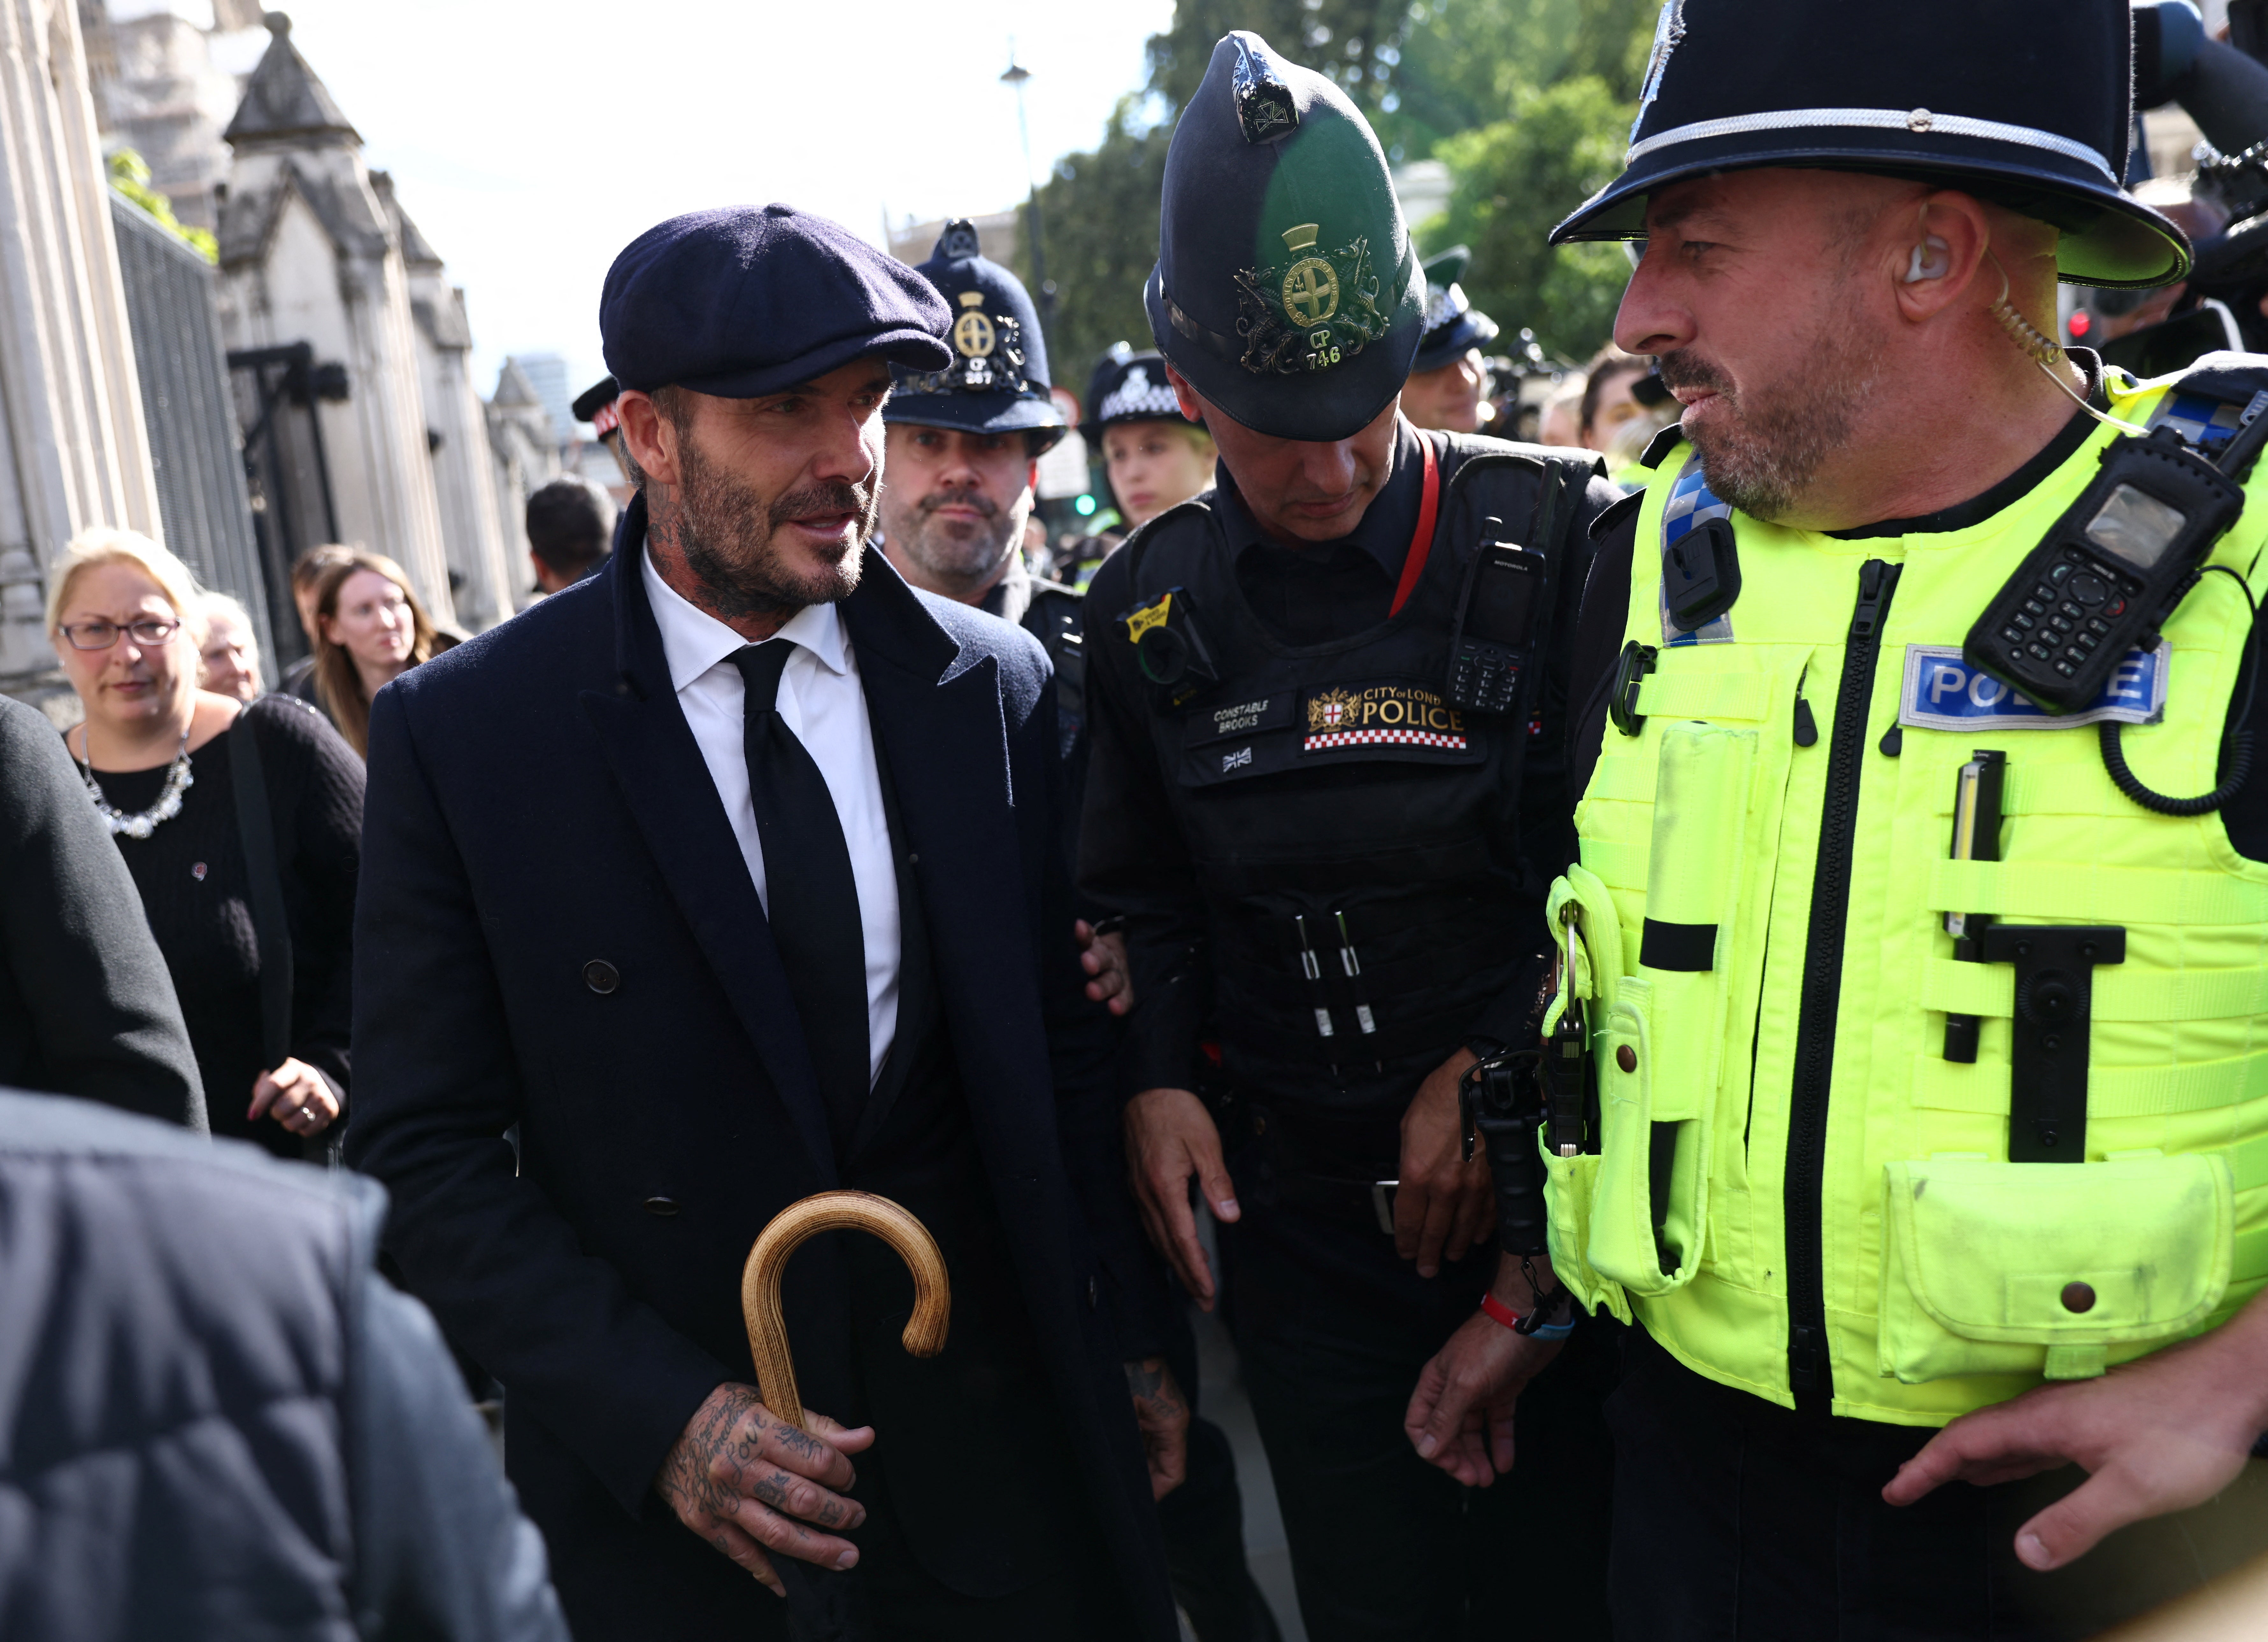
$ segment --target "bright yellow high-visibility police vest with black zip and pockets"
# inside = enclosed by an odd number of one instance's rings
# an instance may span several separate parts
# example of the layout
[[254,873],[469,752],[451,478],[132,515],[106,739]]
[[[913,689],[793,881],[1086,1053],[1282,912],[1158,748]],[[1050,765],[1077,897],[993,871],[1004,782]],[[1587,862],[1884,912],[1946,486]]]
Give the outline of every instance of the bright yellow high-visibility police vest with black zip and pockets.
[[[2164,390],[2112,397],[2143,420]],[[1715,1381],[1794,1404],[1796,1345],[1835,1413],[1944,1424],[2209,1329],[2268,1277],[2268,864],[2218,814],[2121,796],[2093,721],[1960,662],[2112,438],[1955,531],[1839,540],[1730,513],[1742,592],[1699,635],[1667,626],[1658,553],[1699,467],[1672,451],[1647,492],[1626,619],[1660,651],[1644,723],[1606,730],[1581,866],[1551,898],[1601,1109],[1599,1152],[1547,1157],[1551,1256],[1585,1304]],[[2211,562],[2259,599],[2268,465],[2248,494]],[[1903,569],[1860,689],[1867,560]],[[2123,746],[2148,787],[2202,794],[2243,592],[2207,574],[2164,635],[2164,671],[2136,655],[2123,674],[2164,719]],[[1975,748],[2007,755],[1998,862],[1950,860]],[[2084,1163],[2007,1161],[2014,971],[1955,962],[1948,912],[2125,928],[2125,962],[2093,971]],[[1715,925],[1708,968],[1642,962],[1649,919]],[[1975,1064],[1944,1059],[1948,1009],[1982,1016]],[[1821,1070],[1810,1123],[1796,1089]]]

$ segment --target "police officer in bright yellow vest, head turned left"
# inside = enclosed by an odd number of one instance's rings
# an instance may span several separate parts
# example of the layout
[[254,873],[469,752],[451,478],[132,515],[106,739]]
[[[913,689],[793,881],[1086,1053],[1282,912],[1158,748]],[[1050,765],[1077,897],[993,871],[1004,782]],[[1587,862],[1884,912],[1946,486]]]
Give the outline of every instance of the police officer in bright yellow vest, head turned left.
[[[2268,358],[2048,342],[2189,265],[2127,86],[2123,0],[1672,0],[1556,231],[1642,243],[1683,404],[1597,526],[1499,1272],[1635,1322],[1617,1635],[2093,1635],[2268,1540]],[[1508,1458],[1551,1349],[1470,1324],[1417,1449]]]

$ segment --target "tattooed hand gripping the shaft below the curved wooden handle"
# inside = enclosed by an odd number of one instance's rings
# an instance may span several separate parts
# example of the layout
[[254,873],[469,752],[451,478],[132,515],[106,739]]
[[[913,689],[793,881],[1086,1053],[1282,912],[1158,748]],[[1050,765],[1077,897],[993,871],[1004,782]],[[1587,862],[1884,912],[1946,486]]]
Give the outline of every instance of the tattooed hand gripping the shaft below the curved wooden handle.
[[810,1420],[819,1436],[773,1417],[758,1402],[755,1386],[719,1386],[653,1479],[653,1492],[669,1501],[678,1522],[764,1581],[776,1597],[785,1597],[787,1588],[764,1547],[821,1567],[853,1567],[855,1544],[803,1524],[855,1529],[866,1520],[862,1504],[830,1490],[857,1481],[848,1456],[873,1445],[873,1427],[844,1431],[821,1413]]

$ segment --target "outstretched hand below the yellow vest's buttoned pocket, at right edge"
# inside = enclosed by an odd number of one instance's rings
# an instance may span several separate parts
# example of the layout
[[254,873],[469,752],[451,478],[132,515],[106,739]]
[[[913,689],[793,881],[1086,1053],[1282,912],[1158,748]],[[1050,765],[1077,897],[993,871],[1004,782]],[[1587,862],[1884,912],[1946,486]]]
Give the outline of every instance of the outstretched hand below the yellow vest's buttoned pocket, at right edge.
[[1948,1481],[2007,1483],[2068,1461],[2087,1481],[2016,1529],[2016,1556],[2048,1572],[2143,1517],[2200,1506],[2245,1465],[2268,1429],[2268,1302],[2214,1334],[2102,1379],[2028,1390],[1962,1415],[1898,1467],[1882,1490],[1910,1506]]

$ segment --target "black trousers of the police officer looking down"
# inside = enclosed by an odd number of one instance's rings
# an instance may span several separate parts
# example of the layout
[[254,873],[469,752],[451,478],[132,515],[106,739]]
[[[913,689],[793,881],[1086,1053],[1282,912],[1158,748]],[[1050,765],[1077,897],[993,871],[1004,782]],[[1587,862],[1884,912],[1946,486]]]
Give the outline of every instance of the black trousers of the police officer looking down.
[[1520,1399],[1510,1476],[1465,1488],[1402,1417],[1481,1304],[1495,1245],[1422,1279],[1390,1236],[1241,1197],[1220,1227],[1227,1322],[1275,1472],[1311,1642],[1608,1633],[1613,1322],[1585,1322]]

